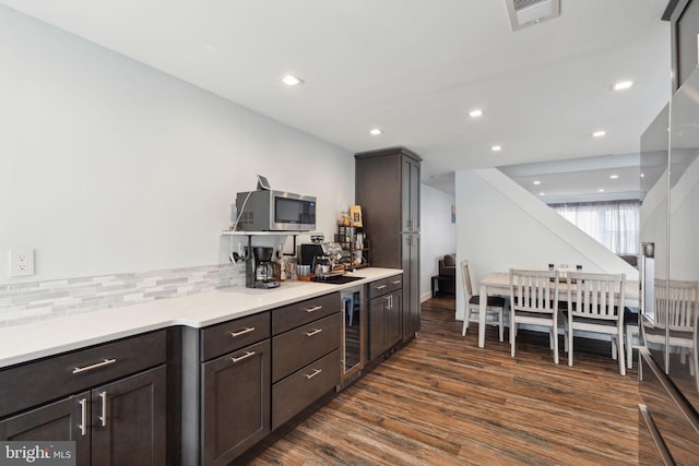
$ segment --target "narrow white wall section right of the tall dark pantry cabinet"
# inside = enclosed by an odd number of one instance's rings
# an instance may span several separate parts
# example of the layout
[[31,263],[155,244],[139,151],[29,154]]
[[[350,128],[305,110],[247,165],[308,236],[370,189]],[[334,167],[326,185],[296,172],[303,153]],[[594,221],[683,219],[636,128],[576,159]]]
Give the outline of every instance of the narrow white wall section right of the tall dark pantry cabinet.
[[457,225],[451,223],[454,196],[435,188],[420,187],[420,301],[431,297],[433,275],[437,275],[437,261],[445,254],[457,252]]

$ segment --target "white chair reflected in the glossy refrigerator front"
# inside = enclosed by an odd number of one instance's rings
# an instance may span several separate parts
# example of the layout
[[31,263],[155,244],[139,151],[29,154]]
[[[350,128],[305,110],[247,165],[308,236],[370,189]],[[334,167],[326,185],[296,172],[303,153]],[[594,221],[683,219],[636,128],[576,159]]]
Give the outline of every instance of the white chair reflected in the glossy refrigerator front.
[[[665,344],[668,328],[667,351],[679,353],[680,363],[686,363],[689,355],[689,374],[695,378],[699,390],[699,356],[697,355],[699,282],[656,280],[655,286],[655,332],[645,332],[647,343]],[[665,286],[666,284],[666,286]]]

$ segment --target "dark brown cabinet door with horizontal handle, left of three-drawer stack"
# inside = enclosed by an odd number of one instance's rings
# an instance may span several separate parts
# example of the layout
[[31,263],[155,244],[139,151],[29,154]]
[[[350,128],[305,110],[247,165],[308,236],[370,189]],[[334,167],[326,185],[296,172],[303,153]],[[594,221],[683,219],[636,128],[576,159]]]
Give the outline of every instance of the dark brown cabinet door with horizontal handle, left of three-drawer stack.
[[226,465],[270,432],[270,348],[265,339],[203,365],[203,465]]

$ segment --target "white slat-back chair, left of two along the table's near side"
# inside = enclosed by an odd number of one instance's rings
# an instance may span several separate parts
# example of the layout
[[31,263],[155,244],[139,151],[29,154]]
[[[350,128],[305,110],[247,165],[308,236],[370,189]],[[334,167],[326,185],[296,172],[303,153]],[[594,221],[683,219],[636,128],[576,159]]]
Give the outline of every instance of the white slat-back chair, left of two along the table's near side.
[[558,271],[510,268],[510,346],[514,357],[517,325],[548,327],[554,362],[558,363]]

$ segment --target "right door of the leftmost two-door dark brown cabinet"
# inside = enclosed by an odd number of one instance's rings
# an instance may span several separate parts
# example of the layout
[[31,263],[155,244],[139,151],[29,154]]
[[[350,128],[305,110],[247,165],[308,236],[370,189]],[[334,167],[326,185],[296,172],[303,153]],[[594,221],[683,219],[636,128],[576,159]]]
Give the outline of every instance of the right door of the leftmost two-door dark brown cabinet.
[[92,391],[95,465],[165,466],[165,366]]

